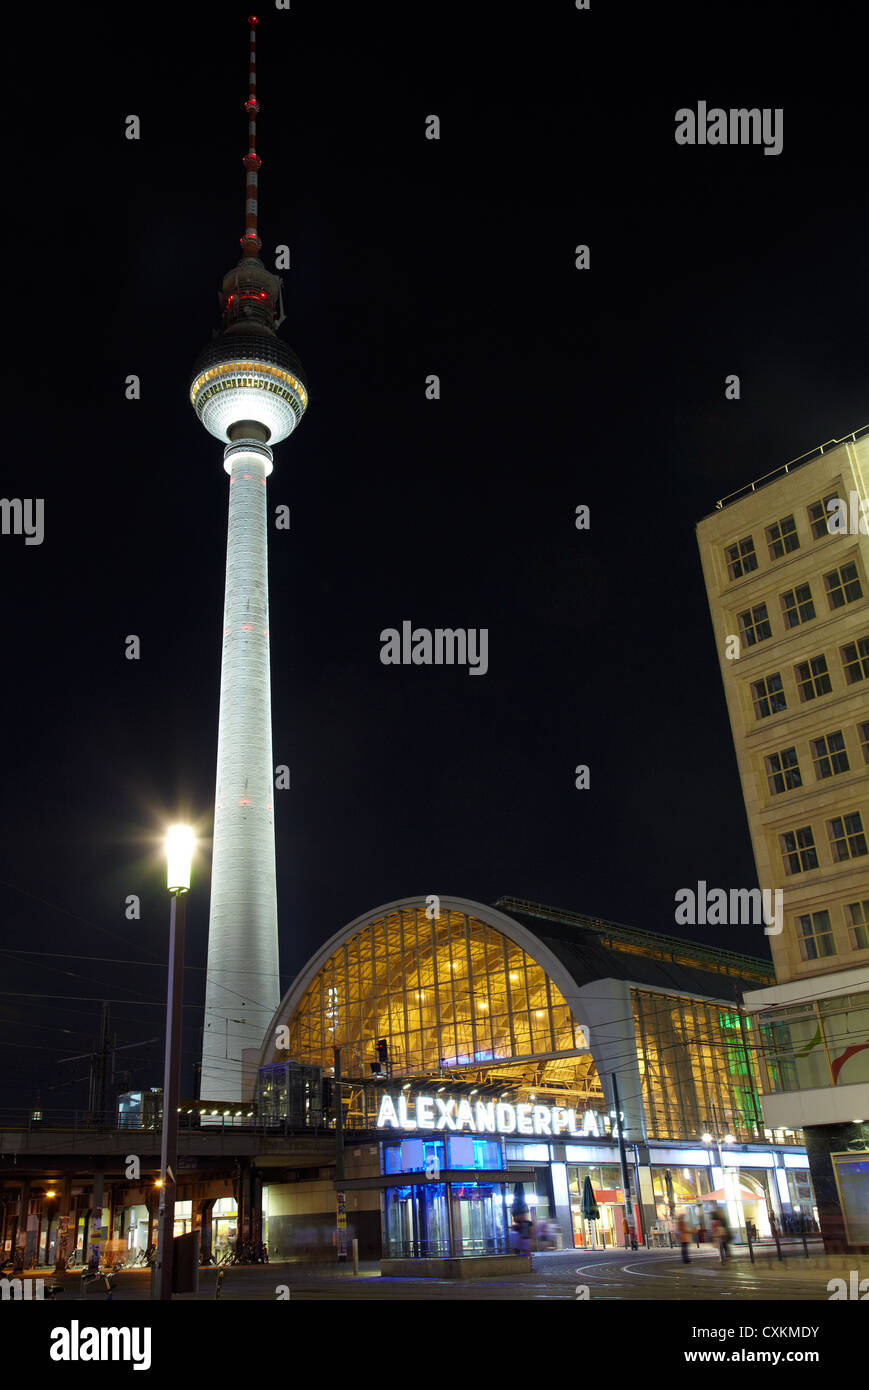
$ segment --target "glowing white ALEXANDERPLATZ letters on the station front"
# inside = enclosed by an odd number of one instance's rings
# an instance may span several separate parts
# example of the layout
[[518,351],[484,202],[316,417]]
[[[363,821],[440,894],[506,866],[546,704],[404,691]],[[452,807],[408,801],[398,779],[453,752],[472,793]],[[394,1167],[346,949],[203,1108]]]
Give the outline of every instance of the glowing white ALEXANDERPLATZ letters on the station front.
[[[455,1095],[417,1095],[407,1104],[403,1095],[384,1095],[377,1129],[469,1130],[473,1134],[592,1134],[601,1138],[599,1116],[594,1111],[576,1111],[562,1105],[513,1105],[509,1101],[470,1101]],[[610,1137],[610,1136],[606,1136]]]

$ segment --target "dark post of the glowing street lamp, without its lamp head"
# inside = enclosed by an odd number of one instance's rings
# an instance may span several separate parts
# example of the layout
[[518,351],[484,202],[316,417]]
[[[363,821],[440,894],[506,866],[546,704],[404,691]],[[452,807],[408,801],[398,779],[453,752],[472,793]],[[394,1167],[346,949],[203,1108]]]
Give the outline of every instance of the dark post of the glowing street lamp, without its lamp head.
[[184,990],[184,926],[186,894],[172,892],[170,909],[170,972],[165,1001],[165,1065],[163,1072],[163,1144],[160,1148],[160,1213],[153,1295],[172,1297],[172,1236],[175,1229],[175,1169],[178,1166],[178,1091],[181,1072],[181,999]]

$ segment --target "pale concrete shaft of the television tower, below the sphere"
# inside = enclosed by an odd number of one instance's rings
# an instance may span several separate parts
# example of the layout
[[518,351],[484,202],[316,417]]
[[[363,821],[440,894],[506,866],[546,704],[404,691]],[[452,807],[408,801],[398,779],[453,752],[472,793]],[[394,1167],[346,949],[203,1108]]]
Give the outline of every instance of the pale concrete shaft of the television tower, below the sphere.
[[229,524],[203,1099],[242,1099],[242,1049],[260,1048],[281,999],[268,657],[266,478],[271,450],[227,448]]

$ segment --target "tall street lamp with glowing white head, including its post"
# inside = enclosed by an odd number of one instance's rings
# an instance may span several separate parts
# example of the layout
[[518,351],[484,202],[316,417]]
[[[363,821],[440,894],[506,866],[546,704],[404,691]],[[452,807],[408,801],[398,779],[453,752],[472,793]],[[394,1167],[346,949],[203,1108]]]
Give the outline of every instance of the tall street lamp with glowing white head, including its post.
[[184,987],[184,924],[190,887],[193,831],[171,826],[167,835],[170,908],[170,970],[165,1001],[165,1065],[163,1070],[163,1144],[160,1150],[160,1211],[152,1298],[172,1297],[172,1236],[175,1229],[175,1168],[178,1166],[178,1090],[181,1074],[181,997]]

